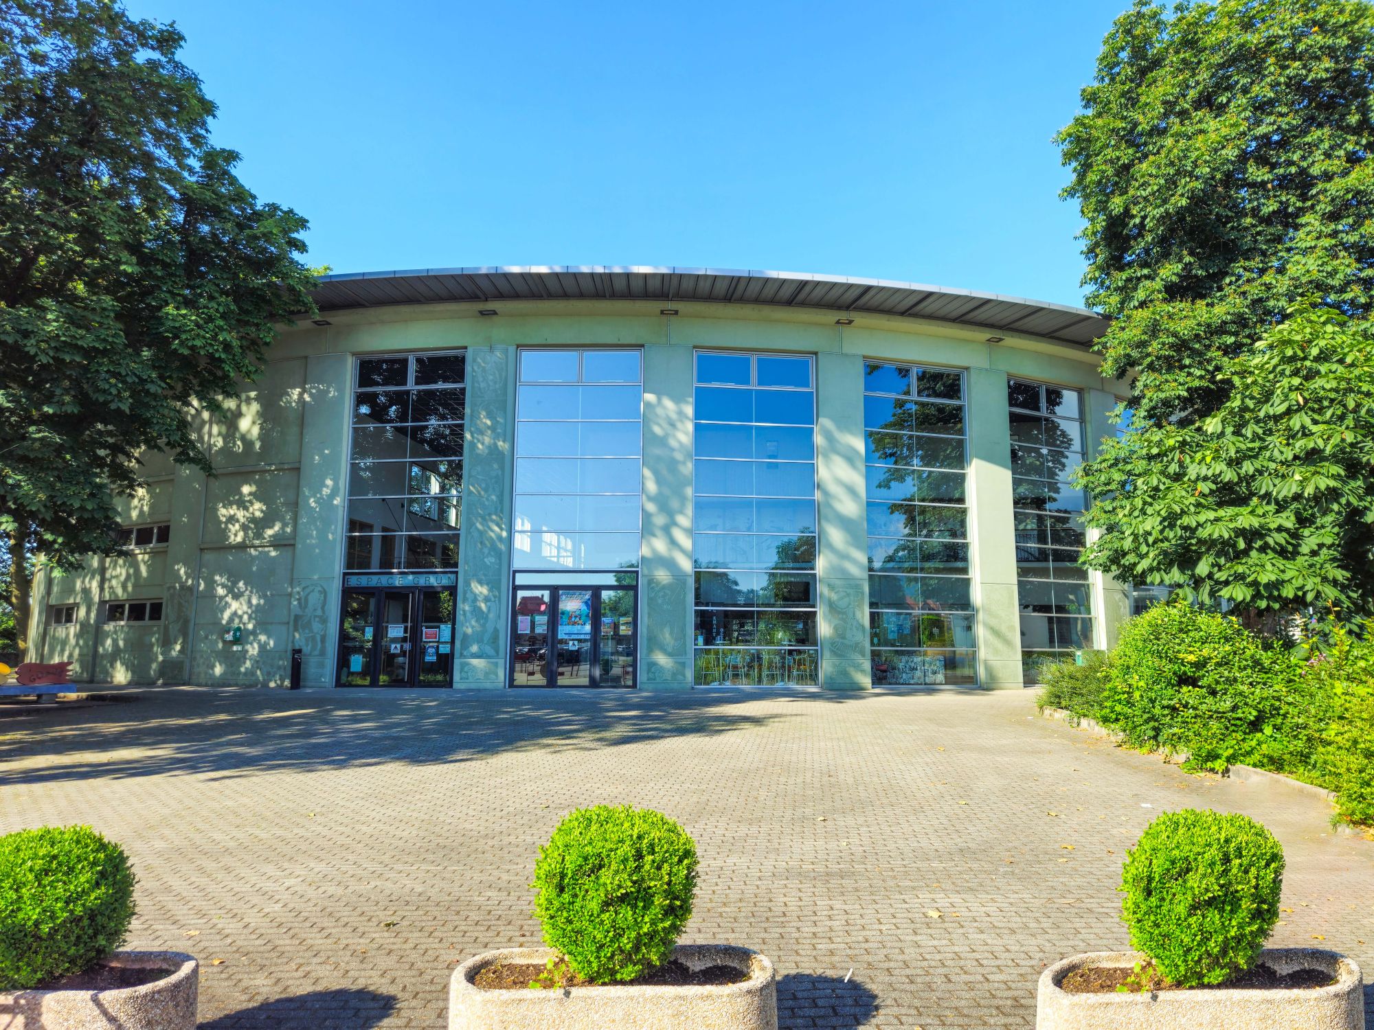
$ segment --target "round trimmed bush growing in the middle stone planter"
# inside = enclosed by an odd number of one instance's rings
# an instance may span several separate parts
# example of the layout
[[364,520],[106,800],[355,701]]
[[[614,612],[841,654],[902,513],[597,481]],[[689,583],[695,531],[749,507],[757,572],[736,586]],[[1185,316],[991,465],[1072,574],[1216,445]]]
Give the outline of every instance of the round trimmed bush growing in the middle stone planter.
[[697,846],[658,812],[578,809],[539,850],[534,915],[578,976],[632,981],[661,964],[691,917]]

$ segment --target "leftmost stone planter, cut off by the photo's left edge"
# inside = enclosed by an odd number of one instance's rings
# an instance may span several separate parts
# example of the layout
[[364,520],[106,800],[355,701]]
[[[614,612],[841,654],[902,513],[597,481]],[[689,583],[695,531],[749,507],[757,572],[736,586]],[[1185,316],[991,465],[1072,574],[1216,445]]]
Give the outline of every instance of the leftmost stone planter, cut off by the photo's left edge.
[[154,968],[162,979],[115,990],[0,993],[5,1030],[195,1030],[201,967],[180,952],[115,952],[110,965]]

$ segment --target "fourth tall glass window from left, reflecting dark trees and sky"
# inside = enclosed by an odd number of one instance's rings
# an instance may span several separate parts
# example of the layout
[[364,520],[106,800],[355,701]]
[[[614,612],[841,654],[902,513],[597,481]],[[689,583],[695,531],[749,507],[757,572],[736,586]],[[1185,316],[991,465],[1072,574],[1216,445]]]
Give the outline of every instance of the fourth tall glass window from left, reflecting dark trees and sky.
[[978,681],[963,374],[864,365],[872,683]]

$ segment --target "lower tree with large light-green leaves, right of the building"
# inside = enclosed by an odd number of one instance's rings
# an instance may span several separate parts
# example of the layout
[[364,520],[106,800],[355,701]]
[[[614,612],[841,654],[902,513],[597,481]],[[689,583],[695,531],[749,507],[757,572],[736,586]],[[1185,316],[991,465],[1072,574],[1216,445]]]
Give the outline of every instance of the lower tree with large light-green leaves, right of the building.
[[1202,420],[1106,445],[1088,562],[1202,604],[1374,614],[1374,327],[1297,308],[1219,386]]

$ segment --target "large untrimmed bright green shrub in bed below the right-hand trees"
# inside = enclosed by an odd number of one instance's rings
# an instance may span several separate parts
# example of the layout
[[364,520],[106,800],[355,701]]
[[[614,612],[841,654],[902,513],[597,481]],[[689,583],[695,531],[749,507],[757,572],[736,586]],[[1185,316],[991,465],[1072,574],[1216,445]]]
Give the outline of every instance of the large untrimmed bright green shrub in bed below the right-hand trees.
[[1154,604],[1121,628],[1101,721],[1135,747],[1187,751],[1202,768],[1297,769],[1323,728],[1312,687],[1287,652],[1234,618]]

